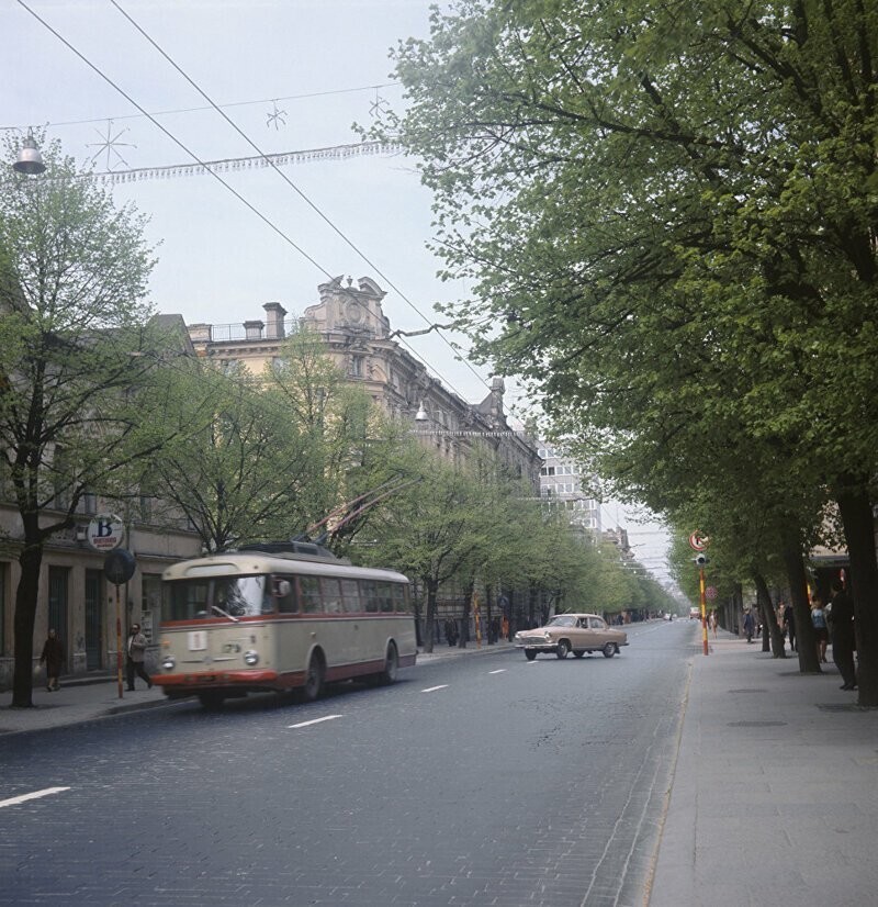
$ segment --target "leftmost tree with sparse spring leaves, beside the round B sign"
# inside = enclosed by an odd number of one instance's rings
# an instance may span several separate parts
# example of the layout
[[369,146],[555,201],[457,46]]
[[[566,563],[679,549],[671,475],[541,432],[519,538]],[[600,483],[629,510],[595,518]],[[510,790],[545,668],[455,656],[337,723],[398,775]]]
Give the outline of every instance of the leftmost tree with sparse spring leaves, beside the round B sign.
[[115,209],[57,144],[43,157],[44,177],[0,172],[0,463],[22,526],[11,542],[21,708],[33,705],[45,544],[74,525],[85,494],[114,490],[167,438],[162,394],[128,393],[156,380],[151,357],[134,354],[167,339],[145,302],[153,253],[143,221]]

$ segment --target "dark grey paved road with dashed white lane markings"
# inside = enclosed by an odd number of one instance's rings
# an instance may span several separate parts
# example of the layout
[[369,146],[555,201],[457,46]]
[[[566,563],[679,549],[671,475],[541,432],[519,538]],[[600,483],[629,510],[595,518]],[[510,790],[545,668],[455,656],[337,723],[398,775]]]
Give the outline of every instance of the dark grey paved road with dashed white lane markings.
[[8,738],[0,904],[640,907],[694,646],[629,629]]

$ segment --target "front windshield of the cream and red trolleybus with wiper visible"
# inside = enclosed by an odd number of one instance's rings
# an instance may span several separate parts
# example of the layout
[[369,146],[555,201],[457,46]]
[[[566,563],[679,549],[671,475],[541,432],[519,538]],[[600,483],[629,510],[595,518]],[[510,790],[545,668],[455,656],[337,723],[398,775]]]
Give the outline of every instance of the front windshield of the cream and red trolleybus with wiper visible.
[[215,576],[169,583],[165,620],[254,617],[271,614],[274,603],[266,576]]

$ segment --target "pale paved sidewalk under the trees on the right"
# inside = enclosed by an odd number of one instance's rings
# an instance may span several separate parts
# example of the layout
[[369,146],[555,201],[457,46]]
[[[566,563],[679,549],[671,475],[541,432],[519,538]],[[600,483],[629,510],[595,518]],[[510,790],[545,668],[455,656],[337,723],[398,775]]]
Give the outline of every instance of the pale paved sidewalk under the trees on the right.
[[698,632],[650,907],[878,903],[878,709]]

